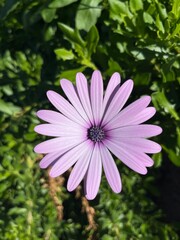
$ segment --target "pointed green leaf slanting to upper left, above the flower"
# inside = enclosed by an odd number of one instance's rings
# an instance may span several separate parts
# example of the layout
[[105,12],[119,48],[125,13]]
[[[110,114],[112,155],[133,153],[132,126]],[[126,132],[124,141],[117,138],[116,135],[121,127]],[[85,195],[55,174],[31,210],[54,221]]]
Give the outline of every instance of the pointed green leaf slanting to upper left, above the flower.
[[77,43],[82,47],[85,46],[85,42],[82,40],[78,30],[74,30],[63,23],[58,23],[58,26],[70,42]]

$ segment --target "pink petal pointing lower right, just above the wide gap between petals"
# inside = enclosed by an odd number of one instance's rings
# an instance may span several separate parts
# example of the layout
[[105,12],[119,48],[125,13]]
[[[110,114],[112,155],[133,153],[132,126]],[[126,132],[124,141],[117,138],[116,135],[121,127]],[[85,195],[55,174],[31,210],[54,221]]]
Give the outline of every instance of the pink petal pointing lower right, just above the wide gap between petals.
[[138,172],[140,174],[146,174],[147,169],[144,163],[141,163],[134,154],[119,146],[118,143],[104,140],[103,143],[105,146],[117,157],[119,158],[125,165],[129,168]]

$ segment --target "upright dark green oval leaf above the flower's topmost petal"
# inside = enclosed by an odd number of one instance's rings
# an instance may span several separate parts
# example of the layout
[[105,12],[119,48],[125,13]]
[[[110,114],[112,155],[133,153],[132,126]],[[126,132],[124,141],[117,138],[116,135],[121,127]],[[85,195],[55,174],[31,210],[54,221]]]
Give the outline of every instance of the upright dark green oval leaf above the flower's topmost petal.
[[87,49],[89,57],[95,52],[99,42],[99,33],[95,26],[92,26],[87,35]]

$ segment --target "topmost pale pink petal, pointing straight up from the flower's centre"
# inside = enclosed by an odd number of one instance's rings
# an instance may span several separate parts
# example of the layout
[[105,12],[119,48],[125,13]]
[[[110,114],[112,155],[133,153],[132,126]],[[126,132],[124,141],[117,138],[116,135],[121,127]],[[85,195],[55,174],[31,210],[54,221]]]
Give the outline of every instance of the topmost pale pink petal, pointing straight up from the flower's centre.
[[91,106],[96,126],[101,121],[103,104],[103,80],[100,71],[96,70],[91,78]]

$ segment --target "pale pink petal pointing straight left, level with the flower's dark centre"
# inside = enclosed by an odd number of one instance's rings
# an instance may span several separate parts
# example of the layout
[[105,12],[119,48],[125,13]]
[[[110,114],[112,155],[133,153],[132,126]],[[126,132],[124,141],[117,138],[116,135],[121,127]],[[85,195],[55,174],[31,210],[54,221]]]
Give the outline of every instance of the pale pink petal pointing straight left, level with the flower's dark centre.
[[73,125],[58,125],[58,124],[40,124],[34,128],[34,131],[45,136],[64,137],[64,136],[87,136],[87,129],[76,124]]

